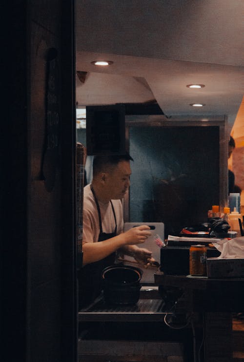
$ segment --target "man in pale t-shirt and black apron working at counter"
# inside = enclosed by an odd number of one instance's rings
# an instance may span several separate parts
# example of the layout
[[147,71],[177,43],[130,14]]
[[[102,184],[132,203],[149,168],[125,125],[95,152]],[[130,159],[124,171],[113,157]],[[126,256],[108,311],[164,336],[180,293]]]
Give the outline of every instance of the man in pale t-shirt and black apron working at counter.
[[116,252],[131,255],[144,265],[153,260],[151,251],[137,246],[151,235],[147,225],[123,232],[122,198],[130,185],[130,160],[129,154],[94,157],[93,180],[83,196],[80,306],[100,294],[102,270],[114,264]]

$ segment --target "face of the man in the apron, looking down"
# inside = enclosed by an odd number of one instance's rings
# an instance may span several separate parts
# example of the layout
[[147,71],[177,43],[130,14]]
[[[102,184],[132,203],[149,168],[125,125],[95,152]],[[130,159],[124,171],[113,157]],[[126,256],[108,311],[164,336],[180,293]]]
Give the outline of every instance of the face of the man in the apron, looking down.
[[129,161],[120,161],[112,171],[107,173],[106,187],[110,199],[118,200],[124,197],[130,186],[130,175]]

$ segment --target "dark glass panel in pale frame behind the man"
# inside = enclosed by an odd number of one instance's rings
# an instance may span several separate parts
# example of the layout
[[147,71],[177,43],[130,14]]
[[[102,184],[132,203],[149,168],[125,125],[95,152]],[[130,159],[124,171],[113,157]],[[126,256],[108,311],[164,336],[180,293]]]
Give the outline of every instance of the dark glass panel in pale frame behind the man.
[[207,221],[219,205],[218,127],[130,127],[130,221],[163,222],[165,235]]

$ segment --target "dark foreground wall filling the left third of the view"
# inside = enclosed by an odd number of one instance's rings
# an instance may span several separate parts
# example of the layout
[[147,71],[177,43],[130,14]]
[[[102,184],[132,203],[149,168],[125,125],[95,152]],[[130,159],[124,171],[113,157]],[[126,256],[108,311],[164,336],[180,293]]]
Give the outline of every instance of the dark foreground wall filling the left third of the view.
[[[3,361],[75,361],[74,2],[11,1],[1,135]],[[48,51],[55,81],[47,103]],[[49,78],[50,80],[50,78]],[[47,111],[59,115],[47,123]],[[57,120],[57,118],[56,118]]]

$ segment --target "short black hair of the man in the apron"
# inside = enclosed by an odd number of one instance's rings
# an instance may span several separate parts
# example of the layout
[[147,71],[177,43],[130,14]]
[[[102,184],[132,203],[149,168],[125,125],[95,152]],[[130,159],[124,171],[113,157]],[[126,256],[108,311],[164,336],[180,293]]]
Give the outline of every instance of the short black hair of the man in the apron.
[[119,155],[99,155],[93,159],[93,176],[104,171],[107,166],[116,166],[121,161],[134,161],[129,153]]

